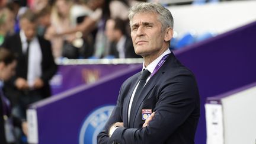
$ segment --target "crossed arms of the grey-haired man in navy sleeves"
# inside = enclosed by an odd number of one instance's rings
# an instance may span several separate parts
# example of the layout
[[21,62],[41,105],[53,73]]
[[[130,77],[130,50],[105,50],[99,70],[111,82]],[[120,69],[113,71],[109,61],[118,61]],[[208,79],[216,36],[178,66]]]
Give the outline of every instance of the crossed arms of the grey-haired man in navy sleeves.
[[[98,135],[98,143],[164,143],[177,130],[182,131],[181,133],[183,130],[193,133],[196,126],[188,125],[197,123],[198,117],[192,118],[191,114],[195,110],[199,94],[191,84],[196,86],[194,79],[189,76],[172,79],[165,84],[155,105],[155,113],[140,129],[122,127],[122,123],[117,123],[122,122],[120,111],[123,108],[123,102],[117,100],[117,106],[105,129]],[[109,129],[113,124],[119,127],[109,137]]]

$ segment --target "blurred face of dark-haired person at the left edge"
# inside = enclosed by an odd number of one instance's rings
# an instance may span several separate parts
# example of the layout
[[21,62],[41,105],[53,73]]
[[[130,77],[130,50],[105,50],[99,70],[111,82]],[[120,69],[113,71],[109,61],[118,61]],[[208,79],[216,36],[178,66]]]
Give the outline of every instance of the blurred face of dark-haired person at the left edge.
[[12,63],[9,63],[8,65],[5,65],[2,62],[2,79],[4,81],[7,81],[11,78],[11,76],[15,75],[15,68],[16,68],[17,62],[14,60]]

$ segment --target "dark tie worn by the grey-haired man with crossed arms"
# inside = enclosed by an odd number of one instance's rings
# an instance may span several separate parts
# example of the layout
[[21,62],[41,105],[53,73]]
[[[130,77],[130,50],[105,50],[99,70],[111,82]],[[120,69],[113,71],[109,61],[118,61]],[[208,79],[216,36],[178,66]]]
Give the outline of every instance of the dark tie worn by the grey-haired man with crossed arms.
[[[133,97],[133,103],[132,103],[130,113],[133,113],[136,102],[137,102],[137,100],[139,100],[140,93],[142,92],[142,89],[143,89],[144,85],[146,84],[146,79],[148,79],[149,75],[151,75],[151,72],[149,72],[148,69],[144,69],[142,72],[142,76],[140,77],[139,85],[138,85],[135,95]],[[130,116],[131,116],[131,114],[130,114]]]

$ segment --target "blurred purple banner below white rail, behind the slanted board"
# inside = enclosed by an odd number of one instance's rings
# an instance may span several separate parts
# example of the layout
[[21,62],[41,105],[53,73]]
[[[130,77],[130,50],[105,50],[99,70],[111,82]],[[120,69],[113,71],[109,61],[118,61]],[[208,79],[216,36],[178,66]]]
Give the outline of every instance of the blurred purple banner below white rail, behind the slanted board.
[[[136,64],[141,65],[141,64]],[[59,94],[79,85],[91,84],[110,73],[126,69],[127,64],[114,65],[59,65],[51,81],[52,94]],[[90,79],[89,79],[90,78]],[[93,78],[93,79],[92,79]]]

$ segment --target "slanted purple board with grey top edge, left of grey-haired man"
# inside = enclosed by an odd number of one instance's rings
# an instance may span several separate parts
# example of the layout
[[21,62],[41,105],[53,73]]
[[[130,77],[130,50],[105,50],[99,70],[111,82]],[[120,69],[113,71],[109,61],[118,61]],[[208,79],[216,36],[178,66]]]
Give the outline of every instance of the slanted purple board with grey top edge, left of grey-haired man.
[[[107,70],[106,66],[101,65]],[[30,108],[37,110],[39,143],[78,143],[79,130],[88,114],[103,105],[116,105],[121,84],[142,69],[141,64],[125,67],[93,84],[81,85],[31,105]]]

